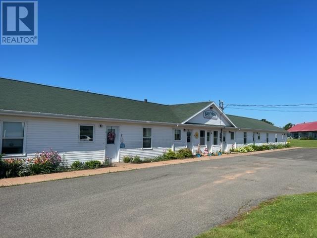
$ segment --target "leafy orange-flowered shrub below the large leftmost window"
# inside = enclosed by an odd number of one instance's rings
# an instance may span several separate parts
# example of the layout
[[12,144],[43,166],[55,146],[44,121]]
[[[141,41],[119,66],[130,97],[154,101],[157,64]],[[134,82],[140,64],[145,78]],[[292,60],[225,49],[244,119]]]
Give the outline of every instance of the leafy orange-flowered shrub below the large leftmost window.
[[2,161],[1,164],[5,178],[14,178],[26,175],[24,160],[6,159]]

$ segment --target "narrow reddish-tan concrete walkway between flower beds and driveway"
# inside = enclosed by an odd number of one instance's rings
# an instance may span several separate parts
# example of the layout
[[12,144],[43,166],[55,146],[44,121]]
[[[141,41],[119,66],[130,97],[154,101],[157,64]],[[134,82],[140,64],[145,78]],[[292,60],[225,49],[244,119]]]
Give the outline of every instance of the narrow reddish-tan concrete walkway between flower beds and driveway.
[[292,150],[292,149],[298,149],[298,147],[276,149],[276,150],[255,151],[255,152],[247,152],[247,153],[225,154],[221,156],[203,156],[199,158],[195,157],[190,159],[168,160],[168,161],[159,161],[159,162],[144,163],[144,164],[114,163],[113,164],[114,166],[112,167],[101,168],[96,170],[69,171],[69,172],[55,173],[55,174],[48,174],[48,175],[34,175],[34,176],[27,176],[27,177],[0,179],[0,187],[21,185],[26,183],[44,182],[44,181],[51,181],[51,180],[58,180],[58,179],[71,179],[71,178],[101,175],[101,174],[108,174],[108,173],[121,172],[121,171],[146,169],[146,168],[158,167],[158,166],[176,165],[176,164],[222,159],[222,158],[231,158],[231,157],[237,157],[237,156],[257,155],[257,154],[262,154],[267,152],[276,152],[276,151],[284,151],[284,150]]

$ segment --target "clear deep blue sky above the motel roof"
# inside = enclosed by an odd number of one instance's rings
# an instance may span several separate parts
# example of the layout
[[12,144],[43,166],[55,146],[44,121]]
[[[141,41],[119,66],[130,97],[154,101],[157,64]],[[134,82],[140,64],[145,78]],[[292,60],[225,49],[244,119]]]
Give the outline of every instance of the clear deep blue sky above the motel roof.
[[[317,103],[315,0],[38,4],[39,45],[0,45],[1,77],[162,104]],[[317,112],[225,113],[278,126],[317,120]]]

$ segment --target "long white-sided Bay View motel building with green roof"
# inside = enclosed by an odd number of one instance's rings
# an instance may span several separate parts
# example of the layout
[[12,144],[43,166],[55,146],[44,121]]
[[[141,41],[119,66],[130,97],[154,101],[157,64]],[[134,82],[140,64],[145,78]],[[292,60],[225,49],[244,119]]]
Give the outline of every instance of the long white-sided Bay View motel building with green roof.
[[286,143],[286,131],[226,115],[214,102],[162,105],[0,78],[0,154],[58,151],[68,163],[150,158],[169,148],[195,154],[248,144]]

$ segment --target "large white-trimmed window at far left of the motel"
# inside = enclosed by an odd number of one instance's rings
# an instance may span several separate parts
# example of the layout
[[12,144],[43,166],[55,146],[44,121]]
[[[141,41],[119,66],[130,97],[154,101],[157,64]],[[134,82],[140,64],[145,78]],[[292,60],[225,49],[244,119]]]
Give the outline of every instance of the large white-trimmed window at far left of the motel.
[[3,121],[0,154],[23,154],[24,129],[24,122]]

